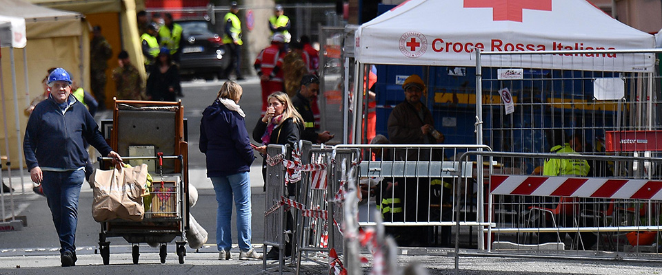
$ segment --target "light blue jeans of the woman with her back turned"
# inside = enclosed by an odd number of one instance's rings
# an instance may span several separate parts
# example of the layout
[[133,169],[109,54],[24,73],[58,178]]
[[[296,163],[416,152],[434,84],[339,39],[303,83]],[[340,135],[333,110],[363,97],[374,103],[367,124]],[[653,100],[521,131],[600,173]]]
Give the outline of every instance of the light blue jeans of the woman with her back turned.
[[237,243],[239,250],[250,250],[250,181],[248,172],[237,173],[225,177],[212,177],[216,201],[219,208],[216,217],[216,244],[219,251],[230,251],[232,248],[232,196],[237,208]]

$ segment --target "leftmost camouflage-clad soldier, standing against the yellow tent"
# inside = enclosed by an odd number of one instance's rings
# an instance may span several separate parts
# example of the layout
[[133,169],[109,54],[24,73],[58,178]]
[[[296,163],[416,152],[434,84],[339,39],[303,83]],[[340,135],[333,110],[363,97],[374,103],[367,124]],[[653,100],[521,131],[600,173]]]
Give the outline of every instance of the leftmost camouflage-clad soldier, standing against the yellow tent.
[[90,88],[99,102],[99,109],[106,109],[106,69],[108,59],[112,57],[112,47],[101,35],[101,27],[92,28],[90,41]]

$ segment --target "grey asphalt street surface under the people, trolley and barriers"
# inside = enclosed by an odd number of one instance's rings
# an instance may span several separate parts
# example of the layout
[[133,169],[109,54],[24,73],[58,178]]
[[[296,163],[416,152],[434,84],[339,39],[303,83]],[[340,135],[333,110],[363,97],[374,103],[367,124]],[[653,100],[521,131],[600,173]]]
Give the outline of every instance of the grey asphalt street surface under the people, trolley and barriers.
[[[259,119],[260,87],[257,78],[239,82],[243,86],[243,98],[239,102],[247,114],[246,126],[252,132]],[[174,253],[174,242],[168,245],[165,264],[159,263],[159,251],[149,245],[140,245],[138,265],[132,264],[131,246],[121,238],[110,238],[110,265],[103,265],[98,254],[99,223],[92,219],[92,190],[83,184],[79,202],[79,227],[77,230],[76,267],[59,267],[59,243],[52,225],[46,199],[32,192],[29,175],[24,175],[27,192],[22,194],[20,179],[16,170],[12,171],[12,184],[17,190],[14,196],[14,213],[27,218],[27,226],[21,231],[0,232],[0,274],[256,274],[262,270],[262,261],[239,261],[237,244],[232,249],[232,260],[218,261],[215,245],[215,214],[217,202],[211,182],[206,177],[205,156],[198,150],[199,122],[203,109],[217,95],[221,81],[203,82],[194,80],[183,83],[185,97],[185,118],[188,118],[190,142],[190,184],[199,190],[192,215],[208,231],[208,241],[199,250],[188,248],[185,263],[180,265]],[[110,111],[97,115],[97,119],[112,118]],[[259,156],[258,156],[259,157]],[[250,172],[252,191],[252,243],[262,251],[264,193],[260,169],[261,159],[256,159]],[[7,182],[7,173],[2,174]],[[158,177],[158,176],[157,176]],[[6,216],[10,216],[5,199]],[[234,219],[232,221],[234,224]],[[233,226],[233,236],[237,236]],[[662,264],[656,261],[618,261],[569,259],[567,257],[499,256],[479,253],[475,250],[461,250],[459,274],[662,274]],[[370,258],[367,251],[364,256]],[[326,261],[325,259],[320,259]],[[454,250],[440,248],[401,248],[399,265],[416,263],[429,274],[455,274]],[[328,266],[304,263],[308,267],[303,274],[328,274]],[[273,266],[273,263],[270,265]],[[370,264],[364,264],[367,274]],[[291,271],[291,270],[290,270]]]

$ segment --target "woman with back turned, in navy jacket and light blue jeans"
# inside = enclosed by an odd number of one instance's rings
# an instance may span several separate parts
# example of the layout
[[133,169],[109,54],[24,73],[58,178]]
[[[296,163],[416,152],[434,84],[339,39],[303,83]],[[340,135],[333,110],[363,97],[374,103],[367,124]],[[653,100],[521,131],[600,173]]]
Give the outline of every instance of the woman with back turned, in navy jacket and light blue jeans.
[[237,104],[242,89],[234,81],[223,83],[219,96],[202,113],[200,151],[207,156],[207,177],[210,177],[219,203],[216,220],[216,243],[219,260],[229,260],[232,248],[232,197],[237,207],[237,241],[239,259],[262,259],[250,244],[251,209],[248,172],[255,159],[245,113]]

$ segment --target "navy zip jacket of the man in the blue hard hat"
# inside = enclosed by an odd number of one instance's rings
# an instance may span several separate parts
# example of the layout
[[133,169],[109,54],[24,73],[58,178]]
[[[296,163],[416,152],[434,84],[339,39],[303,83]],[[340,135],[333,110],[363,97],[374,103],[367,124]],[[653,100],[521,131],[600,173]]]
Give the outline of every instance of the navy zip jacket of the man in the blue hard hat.
[[50,96],[34,107],[23,139],[28,170],[36,166],[69,170],[85,166],[90,156],[83,139],[103,156],[112,151],[85,105],[74,96],[69,96],[69,102],[65,113]]

